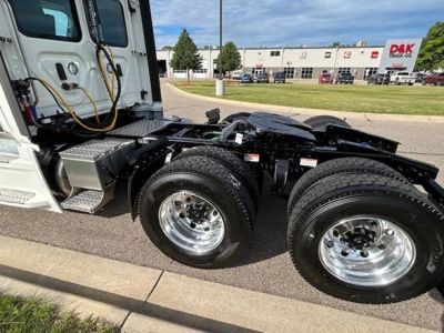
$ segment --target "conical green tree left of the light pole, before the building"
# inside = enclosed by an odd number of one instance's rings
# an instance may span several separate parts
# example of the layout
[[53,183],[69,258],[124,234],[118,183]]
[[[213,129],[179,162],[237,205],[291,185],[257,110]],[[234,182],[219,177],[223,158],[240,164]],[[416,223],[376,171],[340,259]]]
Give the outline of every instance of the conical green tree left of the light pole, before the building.
[[178,43],[174,46],[174,54],[170,65],[174,70],[186,70],[188,83],[190,83],[190,70],[202,68],[202,57],[186,29],[183,29]]

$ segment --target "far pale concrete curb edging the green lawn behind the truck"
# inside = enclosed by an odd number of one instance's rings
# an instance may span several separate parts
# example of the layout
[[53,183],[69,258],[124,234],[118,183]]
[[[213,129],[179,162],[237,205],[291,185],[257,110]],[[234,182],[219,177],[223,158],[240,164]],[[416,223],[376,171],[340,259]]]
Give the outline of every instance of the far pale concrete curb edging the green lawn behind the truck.
[[385,113],[364,113],[364,112],[343,112],[343,111],[331,111],[322,109],[305,109],[305,108],[291,108],[280,107],[272,104],[261,104],[251,102],[232,101],[220,98],[203,97],[194,93],[190,93],[179,89],[171,83],[164,83],[168,88],[172,89],[176,93],[205,102],[222,103],[226,105],[244,107],[248,109],[268,110],[272,112],[290,113],[290,114],[307,114],[307,115],[321,115],[330,114],[339,118],[352,118],[352,119],[367,119],[367,120],[380,120],[380,121],[407,121],[407,122],[438,122],[444,123],[444,117],[442,115],[408,115],[408,114],[385,114]]

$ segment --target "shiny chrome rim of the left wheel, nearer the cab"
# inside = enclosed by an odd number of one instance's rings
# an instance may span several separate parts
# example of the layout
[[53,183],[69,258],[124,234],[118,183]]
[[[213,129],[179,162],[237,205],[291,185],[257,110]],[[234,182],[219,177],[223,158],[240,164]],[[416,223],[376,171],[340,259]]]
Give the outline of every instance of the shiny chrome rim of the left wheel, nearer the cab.
[[160,205],[159,221],[172,243],[193,254],[213,251],[225,235],[225,223],[215,205],[190,191],[168,196]]

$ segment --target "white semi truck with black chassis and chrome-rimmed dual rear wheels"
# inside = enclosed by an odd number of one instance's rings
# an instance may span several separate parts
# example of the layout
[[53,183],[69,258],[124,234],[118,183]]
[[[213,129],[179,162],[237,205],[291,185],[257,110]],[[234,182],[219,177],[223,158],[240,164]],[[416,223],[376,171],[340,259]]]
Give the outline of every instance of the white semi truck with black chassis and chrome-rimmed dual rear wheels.
[[315,287],[389,303],[442,282],[438,170],[397,142],[329,115],[164,119],[149,0],[0,0],[0,204],[93,214],[123,183],[161,251],[223,268],[248,254],[269,174]]

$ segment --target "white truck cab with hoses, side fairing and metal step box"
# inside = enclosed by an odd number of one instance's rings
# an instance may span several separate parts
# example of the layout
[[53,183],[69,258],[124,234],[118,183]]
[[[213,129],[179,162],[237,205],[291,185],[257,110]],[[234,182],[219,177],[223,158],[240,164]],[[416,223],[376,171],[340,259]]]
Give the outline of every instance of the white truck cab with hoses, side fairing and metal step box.
[[[112,196],[111,184],[95,170],[80,181],[87,188],[74,189],[60,152],[162,114],[150,3],[1,0],[0,21],[0,202],[92,212]],[[75,158],[93,160],[122,144]],[[63,204],[83,192],[83,205],[79,198]]]

